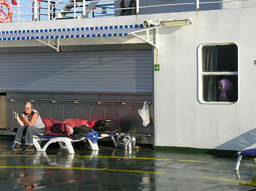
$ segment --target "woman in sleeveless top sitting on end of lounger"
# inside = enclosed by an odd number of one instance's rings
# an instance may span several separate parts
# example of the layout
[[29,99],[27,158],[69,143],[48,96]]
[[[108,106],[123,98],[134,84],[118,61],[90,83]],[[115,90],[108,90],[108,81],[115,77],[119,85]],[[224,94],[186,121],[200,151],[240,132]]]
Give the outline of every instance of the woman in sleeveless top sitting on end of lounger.
[[[33,135],[45,133],[46,128],[44,123],[41,120],[39,113],[33,109],[33,105],[30,101],[24,102],[24,110],[21,114],[21,119],[19,117],[19,113],[17,113],[17,122],[20,124],[20,127],[17,130],[15,136],[15,148],[12,151],[20,151],[21,147],[21,139],[23,134],[26,134],[25,145],[27,146],[26,152],[34,151],[33,146]],[[16,113],[13,111],[13,114]]]

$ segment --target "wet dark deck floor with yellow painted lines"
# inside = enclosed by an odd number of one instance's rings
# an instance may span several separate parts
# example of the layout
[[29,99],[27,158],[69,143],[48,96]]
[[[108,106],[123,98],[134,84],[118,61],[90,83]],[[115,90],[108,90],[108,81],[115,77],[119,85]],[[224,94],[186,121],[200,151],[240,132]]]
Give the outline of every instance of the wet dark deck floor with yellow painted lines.
[[13,138],[0,137],[0,190],[255,190],[256,163],[158,149],[99,151],[49,148],[46,154],[6,155]]

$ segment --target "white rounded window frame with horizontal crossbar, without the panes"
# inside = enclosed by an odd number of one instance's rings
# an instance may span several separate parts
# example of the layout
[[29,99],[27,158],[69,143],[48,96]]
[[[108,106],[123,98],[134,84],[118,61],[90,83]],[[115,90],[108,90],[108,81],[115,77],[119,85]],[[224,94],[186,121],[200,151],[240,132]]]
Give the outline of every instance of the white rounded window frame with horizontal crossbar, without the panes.
[[[203,72],[203,60],[202,60],[202,49],[203,46],[215,46],[215,45],[236,45],[237,46],[237,71],[236,72]],[[201,104],[217,104],[217,105],[233,105],[239,102],[240,98],[240,83],[239,83],[239,46],[235,42],[230,43],[203,43],[199,45],[197,49],[197,58],[198,58],[198,99]],[[237,101],[228,102],[228,101],[204,101],[203,100],[203,76],[204,75],[236,75],[237,76]]]

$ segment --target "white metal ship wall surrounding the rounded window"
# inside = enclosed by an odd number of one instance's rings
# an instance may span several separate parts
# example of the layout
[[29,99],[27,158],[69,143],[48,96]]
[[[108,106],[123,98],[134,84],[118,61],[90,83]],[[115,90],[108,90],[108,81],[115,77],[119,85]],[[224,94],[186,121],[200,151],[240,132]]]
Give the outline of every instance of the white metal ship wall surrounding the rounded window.
[[[149,19],[163,15],[150,15]],[[161,27],[154,72],[155,146],[241,150],[255,144],[256,8],[170,13],[192,25]],[[211,22],[210,22],[211,21]],[[201,104],[198,100],[198,48],[203,43],[236,43],[239,100]],[[255,147],[254,147],[255,148]]]

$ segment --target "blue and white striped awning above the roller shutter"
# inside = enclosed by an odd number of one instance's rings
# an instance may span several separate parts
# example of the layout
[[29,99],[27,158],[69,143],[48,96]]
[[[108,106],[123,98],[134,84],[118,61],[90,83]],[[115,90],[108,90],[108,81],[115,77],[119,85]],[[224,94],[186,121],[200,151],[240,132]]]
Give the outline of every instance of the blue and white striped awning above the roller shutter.
[[46,30],[16,30],[1,31],[0,41],[16,41],[31,39],[64,39],[64,38],[88,38],[104,36],[127,36],[133,32],[143,31],[142,24],[138,25],[117,25],[108,27],[82,27],[62,28]]

